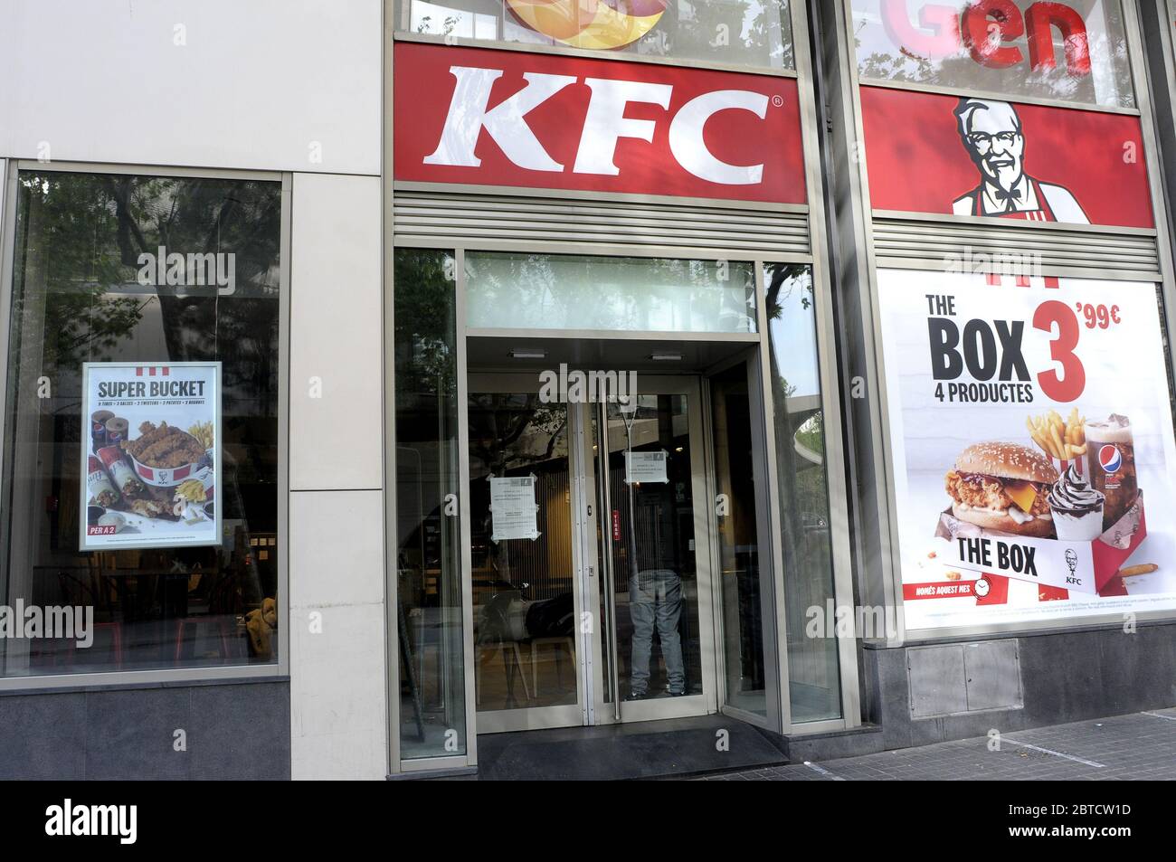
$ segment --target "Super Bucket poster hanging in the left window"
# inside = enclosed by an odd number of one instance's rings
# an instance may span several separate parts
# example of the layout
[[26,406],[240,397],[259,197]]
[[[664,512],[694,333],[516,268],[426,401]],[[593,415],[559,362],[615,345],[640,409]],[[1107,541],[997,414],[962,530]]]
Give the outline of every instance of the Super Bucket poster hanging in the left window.
[[220,362],[82,366],[81,550],[220,543]]

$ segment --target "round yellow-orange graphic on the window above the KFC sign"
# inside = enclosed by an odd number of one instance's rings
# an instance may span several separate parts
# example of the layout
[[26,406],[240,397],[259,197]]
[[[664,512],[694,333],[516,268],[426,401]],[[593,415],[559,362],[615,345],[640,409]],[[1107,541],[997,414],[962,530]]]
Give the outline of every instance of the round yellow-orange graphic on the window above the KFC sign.
[[666,0],[506,0],[514,16],[573,48],[621,48],[657,26]]

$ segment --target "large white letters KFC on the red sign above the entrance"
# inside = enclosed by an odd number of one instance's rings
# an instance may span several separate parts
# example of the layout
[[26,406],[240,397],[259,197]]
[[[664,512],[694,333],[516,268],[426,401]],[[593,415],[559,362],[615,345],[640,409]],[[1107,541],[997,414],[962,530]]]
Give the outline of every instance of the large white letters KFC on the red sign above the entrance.
[[[502,154],[517,167],[546,172],[567,169],[547,152],[526,118],[579,78],[528,72],[523,74],[526,87],[488,109],[490,91],[502,76],[502,69],[450,66],[449,73],[456,79],[453,101],[441,140],[436,149],[425,158],[426,165],[481,166],[482,160],[474,154],[474,148],[482,129],[486,129]],[[655,120],[626,116],[626,109],[630,103],[639,102],[668,111],[674,87],[604,78],[588,78],[584,83],[592,96],[572,171],[576,174],[616,176],[621,173],[614,161],[620,139],[652,142],[657,127]],[[707,148],[703,138],[707,121],[719,112],[730,109],[748,111],[762,120],[767,116],[768,96],[753,91],[721,89],[691,99],[670,121],[670,153],[686,171],[709,182],[757,185],[763,180],[762,163],[730,165]]]

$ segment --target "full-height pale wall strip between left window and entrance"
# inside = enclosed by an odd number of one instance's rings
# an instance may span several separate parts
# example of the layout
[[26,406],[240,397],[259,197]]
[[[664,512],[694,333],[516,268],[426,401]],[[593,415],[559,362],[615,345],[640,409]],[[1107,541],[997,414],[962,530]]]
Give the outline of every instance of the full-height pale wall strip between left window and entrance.
[[380,198],[377,176],[294,176],[295,779],[387,775]]

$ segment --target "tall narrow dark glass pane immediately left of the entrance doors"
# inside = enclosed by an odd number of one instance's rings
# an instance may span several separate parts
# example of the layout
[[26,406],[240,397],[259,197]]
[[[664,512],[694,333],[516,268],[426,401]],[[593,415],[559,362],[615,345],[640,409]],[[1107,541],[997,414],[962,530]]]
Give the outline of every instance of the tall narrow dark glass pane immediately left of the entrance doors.
[[466,751],[454,256],[395,259],[401,757]]

